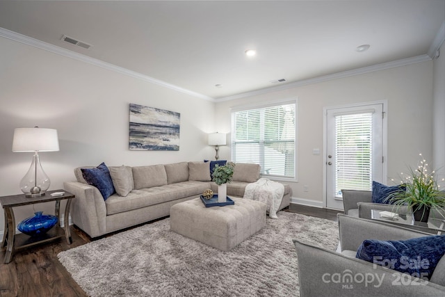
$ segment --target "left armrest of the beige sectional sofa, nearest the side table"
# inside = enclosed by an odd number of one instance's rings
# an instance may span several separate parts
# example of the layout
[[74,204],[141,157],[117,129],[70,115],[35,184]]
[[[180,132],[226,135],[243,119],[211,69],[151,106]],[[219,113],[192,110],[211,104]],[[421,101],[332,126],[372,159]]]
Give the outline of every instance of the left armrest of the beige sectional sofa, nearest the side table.
[[76,195],[71,204],[72,222],[91,237],[106,233],[106,205],[95,186],[65,182],[65,190]]

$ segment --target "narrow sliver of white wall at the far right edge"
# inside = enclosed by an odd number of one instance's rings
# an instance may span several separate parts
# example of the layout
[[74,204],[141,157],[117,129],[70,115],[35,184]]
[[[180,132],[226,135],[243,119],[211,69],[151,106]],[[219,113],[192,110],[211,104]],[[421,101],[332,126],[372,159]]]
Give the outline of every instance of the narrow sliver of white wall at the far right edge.
[[[445,43],[440,48],[439,58],[434,60],[434,166],[440,182],[445,177]],[[445,183],[442,182],[442,186]]]

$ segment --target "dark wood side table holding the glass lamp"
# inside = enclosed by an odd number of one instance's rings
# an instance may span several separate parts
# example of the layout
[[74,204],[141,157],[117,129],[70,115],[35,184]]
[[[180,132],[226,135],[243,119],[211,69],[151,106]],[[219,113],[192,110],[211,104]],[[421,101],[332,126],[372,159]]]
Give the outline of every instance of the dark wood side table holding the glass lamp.
[[[51,193],[55,192],[65,192],[61,196],[51,196]],[[47,191],[44,196],[28,198],[24,194],[21,195],[10,195],[0,197],[0,203],[3,207],[5,213],[5,232],[3,234],[3,241],[1,243],[1,250],[6,247],[4,263],[9,263],[13,259],[13,252],[21,248],[28,248],[30,246],[35,246],[40,243],[45,243],[48,241],[53,241],[65,236],[67,243],[71,244],[71,232],[69,225],[70,217],[70,206],[71,201],[75,198],[72,193],[68,193],[63,190]],[[65,227],[60,225],[60,201],[67,200],[65,207]],[[47,233],[40,236],[29,236],[26,234],[15,234],[15,217],[13,207],[19,207],[29,204],[38,204],[44,202],[56,202],[56,207],[54,209],[54,215],[58,218],[58,224],[51,228]]]

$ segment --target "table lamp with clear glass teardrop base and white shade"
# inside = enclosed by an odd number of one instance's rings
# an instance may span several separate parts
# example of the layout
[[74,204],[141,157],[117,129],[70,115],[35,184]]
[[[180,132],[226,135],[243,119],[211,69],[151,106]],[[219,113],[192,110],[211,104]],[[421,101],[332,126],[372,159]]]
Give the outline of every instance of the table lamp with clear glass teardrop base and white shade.
[[51,182],[43,171],[38,152],[58,151],[56,129],[15,128],[13,152],[34,152],[33,162],[28,172],[20,181],[20,189],[26,197],[43,196]]

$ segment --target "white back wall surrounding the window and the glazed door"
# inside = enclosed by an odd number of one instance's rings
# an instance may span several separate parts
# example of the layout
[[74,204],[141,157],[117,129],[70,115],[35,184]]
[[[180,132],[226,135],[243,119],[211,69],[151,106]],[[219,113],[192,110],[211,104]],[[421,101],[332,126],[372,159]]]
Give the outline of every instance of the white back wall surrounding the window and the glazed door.
[[[234,106],[298,98],[298,182],[293,197],[323,201],[323,108],[357,102],[388,102],[388,177],[416,166],[419,152],[432,161],[432,61],[395,67],[308,86],[216,104],[216,128],[230,131]],[[319,148],[320,155],[312,150]],[[229,147],[220,150],[230,158]],[[391,182],[388,181],[388,184]],[[309,192],[303,186],[309,186]]]

